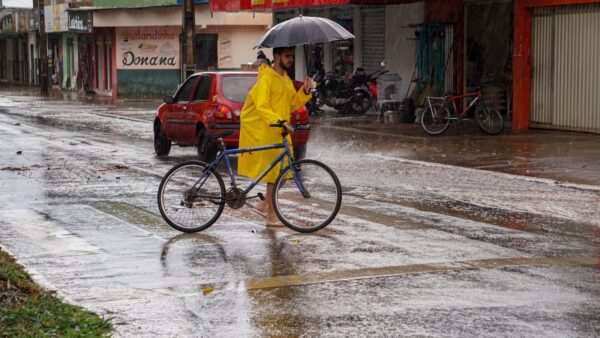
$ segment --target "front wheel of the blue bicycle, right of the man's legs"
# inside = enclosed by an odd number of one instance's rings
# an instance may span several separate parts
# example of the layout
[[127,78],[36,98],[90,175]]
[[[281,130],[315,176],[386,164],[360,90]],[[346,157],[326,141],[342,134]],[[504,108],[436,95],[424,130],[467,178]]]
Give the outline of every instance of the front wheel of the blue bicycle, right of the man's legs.
[[342,186],[329,167],[315,160],[296,162],[298,179],[307,194],[303,195],[288,167],[281,172],[273,189],[273,207],[288,228],[313,232],[331,223],[342,205]]

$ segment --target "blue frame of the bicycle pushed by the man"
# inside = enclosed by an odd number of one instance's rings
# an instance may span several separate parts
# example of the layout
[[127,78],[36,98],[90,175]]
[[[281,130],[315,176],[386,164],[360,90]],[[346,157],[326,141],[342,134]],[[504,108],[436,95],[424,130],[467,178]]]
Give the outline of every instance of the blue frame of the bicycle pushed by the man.
[[259,146],[259,147],[238,148],[238,149],[227,149],[225,144],[222,142],[222,139],[220,139],[220,140],[221,140],[221,146],[223,147],[222,148],[223,150],[217,155],[217,158],[213,162],[208,164],[208,166],[202,173],[203,174],[202,177],[200,177],[198,179],[198,181],[196,181],[194,186],[197,186],[199,183],[200,184],[204,183],[204,180],[207,177],[207,173],[210,172],[210,170],[212,170],[213,168],[217,167],[219,165],[219,163],[221,163],[223,158],[225,158],[225,163],[227,165],[227,171],[229,174],[229,178],[231,180],[231,186],[236,187],[237,184],[235,181],[235,174],[233,173],[233,169],[231,167],[231,160],[229,159],[230,155],[249,153],[249,152],[253,152],[253,151],[269,150],[269,149],[283,149],[282,152],[275,158],[275,160],[273,160],[257,178],[252,180],[252,182],[243,189],[244,194],[249,193],[260,182],[260,180],[263,177],[265,177],[269,171],[271,171],[271,169],[275,168],[277,163],[281,163],[281,170],[283,170],[284,164],[285,164],[283,159],[284,159],[284,157],[287,156],[288,164],[290,166],[290,170],[292,172],[292,177],[294,179],[294,182],[296,183],[296,186],[298,186],[298,188],[300,189],[300,193],[303,196],[305,196],[305,197],[309,196],[308,192],[306,191],[306,188],[304,187],[304,185],[298,178],[298,172],[296,170],[296,167],[294,166],[295,161],[292,157],[292,153],[290,151],[290,146],[288,144],[288,141],[285,138],[283,139],[282,143],[269,144],[269,145]]

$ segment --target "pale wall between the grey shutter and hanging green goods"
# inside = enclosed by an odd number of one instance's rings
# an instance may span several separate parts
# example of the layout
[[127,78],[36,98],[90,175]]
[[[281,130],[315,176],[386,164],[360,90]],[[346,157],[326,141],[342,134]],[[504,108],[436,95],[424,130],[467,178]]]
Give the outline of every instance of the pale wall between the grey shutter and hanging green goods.
[[[406,95],[417,62],[417,41],[408,40],[408,38],[415,38],[415,28],[406,26],[420,24],[424,21],[424,2],[386,7],[385,60],[390,73],[397,73],[402,78],[400,83],[400,96],[402,99]],[[414,85],[411,87],[411,91],[413,88]]]

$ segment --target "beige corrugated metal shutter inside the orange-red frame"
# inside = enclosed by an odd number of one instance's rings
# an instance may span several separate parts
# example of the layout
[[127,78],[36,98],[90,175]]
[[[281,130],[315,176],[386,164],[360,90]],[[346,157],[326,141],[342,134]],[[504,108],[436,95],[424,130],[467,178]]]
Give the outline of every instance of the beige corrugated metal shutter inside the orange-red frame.
[[600,5],[534,10],[532,127],[600,133]]

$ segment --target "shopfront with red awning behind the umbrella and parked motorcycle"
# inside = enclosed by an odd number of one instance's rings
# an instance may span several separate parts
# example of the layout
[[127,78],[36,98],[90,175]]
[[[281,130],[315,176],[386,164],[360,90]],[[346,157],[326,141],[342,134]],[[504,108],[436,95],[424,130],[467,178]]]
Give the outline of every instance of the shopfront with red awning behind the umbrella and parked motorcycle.
[[[331,19],[355,39],[320,46],[326,71],[346,77],[357,68],[373,73],[385,60],[386,69],[401,79],[393,98],[417,101],[426,92],[460,91],[463,86],[462,6],[461,0],[211,0],[215,12],[272,10],[274,24],[298,15]],[[304,76],[314,48],[297,48],[296,79]]]

